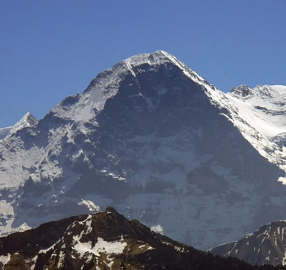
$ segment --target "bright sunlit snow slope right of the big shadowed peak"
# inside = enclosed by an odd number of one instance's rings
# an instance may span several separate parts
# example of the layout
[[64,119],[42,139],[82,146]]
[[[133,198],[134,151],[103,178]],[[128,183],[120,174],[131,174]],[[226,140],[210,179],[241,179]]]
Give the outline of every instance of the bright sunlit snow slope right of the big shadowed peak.
[[[262,156],[285,171],[286,86],[258,85],[250,89],[241,85],[226,96],[236,108],[238,119],[234,124],[245,138]],[[285,177],[280,181],[285,181]]]

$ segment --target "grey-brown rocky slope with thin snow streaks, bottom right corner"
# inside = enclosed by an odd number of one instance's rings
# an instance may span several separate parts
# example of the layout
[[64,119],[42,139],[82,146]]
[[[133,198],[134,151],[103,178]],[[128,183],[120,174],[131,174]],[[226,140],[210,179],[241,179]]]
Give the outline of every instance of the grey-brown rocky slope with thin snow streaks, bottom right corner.
[[274,221],[238,241],[217,246],[210,251],[223,257],[237,257],[254,265],[284,266],[286,265],[285,228],[286,221]]

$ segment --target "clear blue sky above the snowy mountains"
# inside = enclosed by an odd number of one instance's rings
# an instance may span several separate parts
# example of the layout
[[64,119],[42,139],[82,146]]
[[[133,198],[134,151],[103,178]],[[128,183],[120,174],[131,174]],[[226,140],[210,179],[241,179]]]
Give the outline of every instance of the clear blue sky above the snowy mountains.
[[286,85],[286,1],[0,1],[0,127],[164,50],[227,92]]

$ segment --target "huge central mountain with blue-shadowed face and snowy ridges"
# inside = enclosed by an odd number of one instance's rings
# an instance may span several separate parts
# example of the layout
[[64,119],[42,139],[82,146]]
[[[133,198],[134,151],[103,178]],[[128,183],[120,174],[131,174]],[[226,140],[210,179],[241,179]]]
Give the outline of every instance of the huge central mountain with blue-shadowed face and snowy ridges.
[[112,205],[206,250],[283,219],[282,129],[268,137],[255,125],[283,112],[246,94],[219,91],[164,51],[101,72],[0,140],[2,236]]

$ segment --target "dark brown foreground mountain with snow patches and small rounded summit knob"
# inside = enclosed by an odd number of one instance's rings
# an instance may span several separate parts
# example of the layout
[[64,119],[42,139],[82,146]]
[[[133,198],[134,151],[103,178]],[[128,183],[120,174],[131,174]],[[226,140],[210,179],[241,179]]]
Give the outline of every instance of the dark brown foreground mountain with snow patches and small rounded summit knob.
[[1,269],[286,269],[221,258],[155,233],[112,207],[0,238]]

